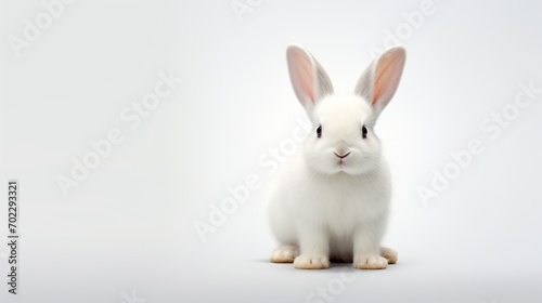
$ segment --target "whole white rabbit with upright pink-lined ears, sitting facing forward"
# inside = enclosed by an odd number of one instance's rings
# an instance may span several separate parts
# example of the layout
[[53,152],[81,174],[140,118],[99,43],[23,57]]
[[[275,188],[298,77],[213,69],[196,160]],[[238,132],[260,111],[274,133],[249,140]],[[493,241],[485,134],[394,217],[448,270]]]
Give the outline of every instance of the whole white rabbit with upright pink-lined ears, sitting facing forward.
[[397,252],[380,248],[391,182],[373,130],[399,85],[404,49],[383,52],[346,95],[334,94],[307,50],[291,45],[286,54],[313,131],[271,187],[269,221],[280,242],[271,262],[318,269],[339,260],[356,268],[386,268],[397,261]]

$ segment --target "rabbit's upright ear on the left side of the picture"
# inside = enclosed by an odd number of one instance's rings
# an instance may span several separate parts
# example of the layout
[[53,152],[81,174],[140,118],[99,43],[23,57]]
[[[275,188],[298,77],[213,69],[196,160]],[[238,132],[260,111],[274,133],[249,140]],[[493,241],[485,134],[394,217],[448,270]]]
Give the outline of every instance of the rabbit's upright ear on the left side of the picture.
[[289,45],[286,51],[286,58],[294,91],[305,110],[311,117],[314,105],[323,96],[333,93],[332,81],[324,68],[304,48]]

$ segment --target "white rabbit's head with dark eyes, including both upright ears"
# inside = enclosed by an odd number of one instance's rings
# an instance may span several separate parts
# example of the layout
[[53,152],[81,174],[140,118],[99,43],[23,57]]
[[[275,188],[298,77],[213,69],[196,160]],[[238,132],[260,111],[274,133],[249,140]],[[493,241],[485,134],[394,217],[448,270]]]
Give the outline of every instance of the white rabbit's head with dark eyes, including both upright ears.
[[373,129],[401,79],[405,52],[383,52],[361,75],[353,94],[335,94],[330,77],[304,48],[287,49],[288,71],[297,98],[312,122],[304,158],[313,171],[350,175],[377,171],[380,143]]

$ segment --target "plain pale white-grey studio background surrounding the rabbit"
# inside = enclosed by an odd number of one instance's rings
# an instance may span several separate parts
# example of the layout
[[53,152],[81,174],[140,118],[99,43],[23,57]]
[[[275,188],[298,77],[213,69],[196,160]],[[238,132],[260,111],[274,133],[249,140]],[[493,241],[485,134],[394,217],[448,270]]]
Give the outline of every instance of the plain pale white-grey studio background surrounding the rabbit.
[[[326,302],[310,295],[328,287],[334,302],[540,302],[542,93],[499,136],[480,128],[520,83],[542,88],[540,1],[435,0],[415,26],[404,15],[422,0],[250,1],[241,18],[231,3],[80,0],[18,57],[9,37],[47,11],[0,3],[0,235],[9,179],[21,184],[22,235],[20,294],[2,282],[2,302]],[[399,263],[268,263],[272,173],[258,159],[304,118],[286,45],[310,49],[349,92],[369,50],[397,30],[406,67],[377,133],[395,181],[385,243]],[[119,114],[169,70],[183,82],[130,129]],[[124,142],[64,197],[57,175],[113,128]],[[417,188],[470,140],[483,152],[424,205]],[[261,186],[202,241],[194,223],[253,174]],[[1,281],[7,256],[2,245]]]

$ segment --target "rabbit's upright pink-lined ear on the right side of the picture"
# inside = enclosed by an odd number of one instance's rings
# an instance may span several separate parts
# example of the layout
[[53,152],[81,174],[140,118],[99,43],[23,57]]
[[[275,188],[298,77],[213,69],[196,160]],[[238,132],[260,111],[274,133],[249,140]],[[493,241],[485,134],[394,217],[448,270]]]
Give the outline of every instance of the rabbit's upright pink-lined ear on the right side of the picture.
[[371,103],[376,117],[388,105],[397,91],[406,54],[401,47],[383,52],[361,75],[356,93]]

